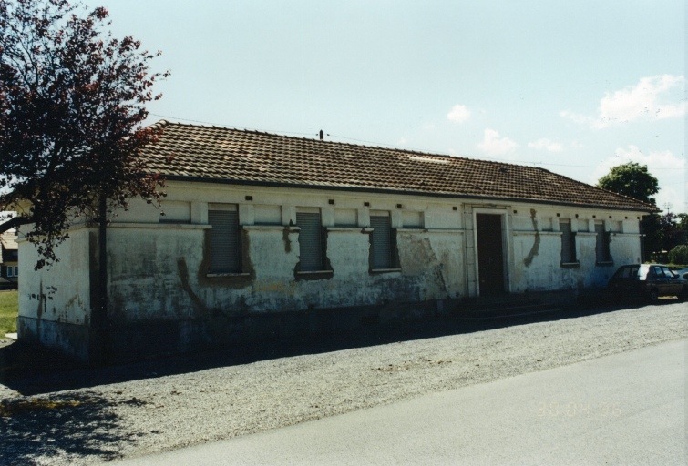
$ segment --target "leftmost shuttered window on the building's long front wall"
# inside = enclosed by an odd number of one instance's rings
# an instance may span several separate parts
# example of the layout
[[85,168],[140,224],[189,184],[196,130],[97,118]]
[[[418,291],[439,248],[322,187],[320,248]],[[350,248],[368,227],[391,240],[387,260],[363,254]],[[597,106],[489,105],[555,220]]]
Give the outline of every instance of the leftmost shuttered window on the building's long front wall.
[[211,273],[241,272],[239,212],[208,210],[211,224]]

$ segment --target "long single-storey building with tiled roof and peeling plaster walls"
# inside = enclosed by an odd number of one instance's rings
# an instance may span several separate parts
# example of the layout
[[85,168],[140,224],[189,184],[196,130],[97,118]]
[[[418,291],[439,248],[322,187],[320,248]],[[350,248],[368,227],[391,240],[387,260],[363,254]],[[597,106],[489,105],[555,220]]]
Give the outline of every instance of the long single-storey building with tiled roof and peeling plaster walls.
[[[20,241],[21,339],[140,357],[350,328],[397,303],[576,292],[640,261],[654,209],[538,167],[157,127],[141,157],[167,197],[162,211],[133,200],[108,226],[105,314],[98,228],[74,225],[40,271]],[[97,321],[117,338],[100,339]]]

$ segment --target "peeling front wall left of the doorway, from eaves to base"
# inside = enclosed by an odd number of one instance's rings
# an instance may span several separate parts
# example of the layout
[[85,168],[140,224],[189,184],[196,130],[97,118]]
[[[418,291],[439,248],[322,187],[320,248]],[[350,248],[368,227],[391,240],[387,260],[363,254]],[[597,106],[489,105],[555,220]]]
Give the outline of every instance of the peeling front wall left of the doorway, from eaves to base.
[[[211,189],[212,188],[212,189]],[[245,202],[251,192],[252,202]],[[328,202],[337,198],[336,204]],[[215,202],[239,206],[242,224],[241,276],[209,277],[204,254],[208,245],[202,229],[203,210]],[[369,207],[390,212],[397,233],[397,249],[404,252],[401,270],[370,273]],[[399,199],[380,195],[342,195],[308,190],[237,187],[169,188],[165,216],[141,201],[119,212],[108,234],[108,273],[111,318],[130,323],[149,319],[202,319],[247,313],[279,312],[381,304],[392,301],[455,298],[466,293],[461,221],[451,204],[423,198]],[[186,203],[186,204],[185,204]],[[277,203],[277,205],[274,205]],[[167,204],[167,206],[166,206]],[[456,203],[454,203],[456,204]],[[189,205],[189,210],[185,208]],[[257,206],[254,207],[254,206]],[[327,234],[329,276],[300,277],[297,208],[320,208]],[[190,212],[187,217],[187,212]],[[256,225],[265,213],[282,225]],[[277,213],[282,212],[281,218]],[[403,215],[403,212],[412,212]],[[190,218],[191,225],[168,223]],[[159,224],[163,218],[165,224]],[[410,227],[404,230],[405,218]],[[207,222],[207,214],[206,220]],[[337,221],[345,223],[338,226]],[[419,225],[419,223],[423,225]],[[357,223],[358,225],[351,225]],[[435,229],[423,229],[423,228]],[[439,230],[437,228],[446,228]],[[454,229],[448,229],[454,228]],[[186,273],[180,274],[183,260]],[[429,268],[427,266],[430,266]],[[422,269],[425,268],[425,269]],[[180,279],[186,276],[187,279]]]

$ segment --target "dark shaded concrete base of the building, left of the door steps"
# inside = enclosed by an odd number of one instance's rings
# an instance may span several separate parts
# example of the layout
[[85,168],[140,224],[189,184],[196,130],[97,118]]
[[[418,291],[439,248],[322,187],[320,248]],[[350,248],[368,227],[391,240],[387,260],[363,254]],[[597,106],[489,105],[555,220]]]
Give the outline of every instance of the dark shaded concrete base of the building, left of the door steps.
[[338,309],[215,315],[210,319],[138,320],[112,325],[107,335],[85,326],[20,317],[19,339],[91,364],[144,360],[204,349],[231,349],[270,341],[337,335],[433,319],[457,300],[390,303]]

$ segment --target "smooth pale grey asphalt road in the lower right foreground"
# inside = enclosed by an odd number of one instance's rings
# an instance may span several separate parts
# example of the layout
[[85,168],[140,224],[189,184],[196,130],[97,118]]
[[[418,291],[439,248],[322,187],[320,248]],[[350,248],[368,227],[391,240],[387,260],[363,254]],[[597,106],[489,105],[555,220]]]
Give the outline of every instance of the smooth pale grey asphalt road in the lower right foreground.
[[121,465],[687,464],[673,340]]

